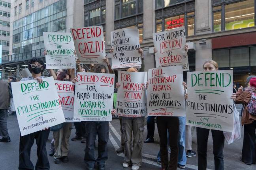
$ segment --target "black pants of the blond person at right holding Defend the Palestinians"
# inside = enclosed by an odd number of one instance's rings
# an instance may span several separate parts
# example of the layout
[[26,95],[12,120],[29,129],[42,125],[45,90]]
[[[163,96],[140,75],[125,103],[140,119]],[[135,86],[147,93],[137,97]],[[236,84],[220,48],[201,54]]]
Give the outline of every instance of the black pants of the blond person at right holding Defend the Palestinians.
[[[198,142],[198,170],[206,170],[207,168],[207,144],[210,129],[201,127],[196,128],[196,138]],[[213,136],[213,155],[214,169],[224,170],[223,148],[225,137],[223,131],[211,130]]]

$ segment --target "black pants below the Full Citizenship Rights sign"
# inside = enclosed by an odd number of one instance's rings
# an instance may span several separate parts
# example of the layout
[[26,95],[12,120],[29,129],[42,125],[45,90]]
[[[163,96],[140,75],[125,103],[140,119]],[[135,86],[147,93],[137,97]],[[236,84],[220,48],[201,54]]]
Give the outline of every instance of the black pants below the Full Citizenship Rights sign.
[[[178,162],[178,133],[179,133],[179,118],[157,116],[156,124],[160,139],[160,152],[162,168],[168,170],[177,170]],[[169,144],[171,148],[170,161],[168,165],[168,148],[167,148],[167,133],[169,133]]]

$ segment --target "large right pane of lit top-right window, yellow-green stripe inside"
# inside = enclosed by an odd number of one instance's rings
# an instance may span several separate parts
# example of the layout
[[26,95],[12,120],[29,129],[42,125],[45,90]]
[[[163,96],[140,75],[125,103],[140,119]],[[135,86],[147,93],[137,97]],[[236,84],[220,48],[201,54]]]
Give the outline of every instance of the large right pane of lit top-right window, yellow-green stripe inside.
[[225,5],[225,30],[254,26],[254,0]]

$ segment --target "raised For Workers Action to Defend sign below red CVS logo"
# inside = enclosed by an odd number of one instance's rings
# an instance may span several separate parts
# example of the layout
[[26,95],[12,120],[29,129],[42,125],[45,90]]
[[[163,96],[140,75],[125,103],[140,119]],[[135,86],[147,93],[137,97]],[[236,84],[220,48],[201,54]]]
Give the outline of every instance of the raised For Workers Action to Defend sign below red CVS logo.
[[189,70],[188,54],[185,51],[186,33],[184,26],[173,30],[153,33],[156,67],[182,65]]

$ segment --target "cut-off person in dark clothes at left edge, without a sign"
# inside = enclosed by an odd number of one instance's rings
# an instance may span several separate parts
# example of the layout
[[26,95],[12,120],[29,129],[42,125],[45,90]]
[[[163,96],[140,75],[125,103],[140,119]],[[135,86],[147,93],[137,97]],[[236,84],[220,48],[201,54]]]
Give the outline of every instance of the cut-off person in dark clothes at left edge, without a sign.
[[9,84],[0,79],[0,135],[2,135],[0,142],[11,142],[7,127],[9,98]]

